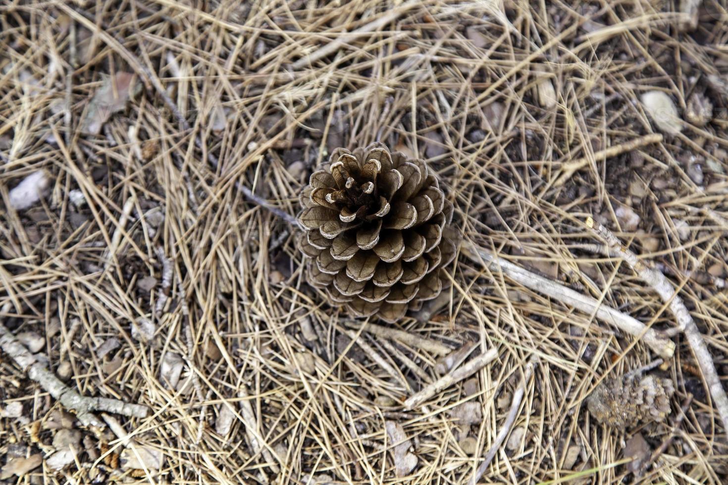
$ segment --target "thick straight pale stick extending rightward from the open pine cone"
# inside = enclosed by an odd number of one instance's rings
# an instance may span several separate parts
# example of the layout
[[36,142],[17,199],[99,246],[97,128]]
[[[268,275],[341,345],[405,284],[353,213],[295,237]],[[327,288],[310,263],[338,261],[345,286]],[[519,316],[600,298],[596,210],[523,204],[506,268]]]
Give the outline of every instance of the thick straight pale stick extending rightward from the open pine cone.
[[474,244],[464,244],[463,251],[470,253],[472,260],[478,261],[494,271],[502,271],[503,274],[517,283],[533,289],[548,297],[571,305],[585,313],[594,314],[596,318],[617,326],[622,331],[641,338],[649,348],[652,348],[657,355],[664,359],[672,358],[675,353],[675,343],[661,335],[654,329],[648,328],[641,321],[629,315],[625,315],[614,308],[598,302],[596,299],[574,291],[571,288],[551,281],[548,278],[531,273],[513,262],[508,262],[500,257],[480,249]]

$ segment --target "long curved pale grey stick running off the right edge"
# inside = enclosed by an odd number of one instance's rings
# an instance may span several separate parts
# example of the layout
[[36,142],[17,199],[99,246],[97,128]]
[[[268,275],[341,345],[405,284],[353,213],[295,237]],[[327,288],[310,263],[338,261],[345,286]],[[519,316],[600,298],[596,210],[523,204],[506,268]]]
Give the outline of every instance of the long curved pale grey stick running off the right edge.
[[708,385],[713,403],[723,422],[723,428],[724,430],[728,430],[728,396],[726,396],[726,392],[721,385],[720,377],[718,376],[718,372],[716,372],[716,366],[713,364],[713,357],[708,351],[708,346],[705,345],[703,335],[700,334],[700,330],[697,329],[695,321],[690,316],[689,310],[685,307],[681,297],[673,289],[668,278],[665,278],[665,275],[660,273],[660,271],[648,268],[644,262],[637,259],[636,254],[625,246],[622,246],[622,243],[617,239],[617,236],[612,234],[612,231],[609,231],[604,225],[596,223],[591,217],[587,219],[587,227],[596,236],[604,239],[606,244],[609,245],[609,248],[619,254],[646,284],[652,286],[652,289],[660,295],[662,301],[668,303],[670,311],[672,311],[678,321],[679,328],[687,337],[687,342],[692,349],[692,353],[695,355],[697,364],[700,366],[700,371],[703,372],[703,379],[705,379],[705,383]]

